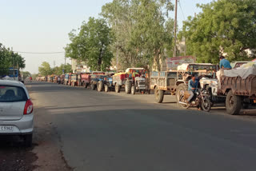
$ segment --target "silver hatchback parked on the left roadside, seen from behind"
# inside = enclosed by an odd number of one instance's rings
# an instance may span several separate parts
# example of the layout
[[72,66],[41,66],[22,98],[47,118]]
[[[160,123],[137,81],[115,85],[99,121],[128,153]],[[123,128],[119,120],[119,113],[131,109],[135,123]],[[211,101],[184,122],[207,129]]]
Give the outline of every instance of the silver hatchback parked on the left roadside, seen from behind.
[[22,82],[0,80],[0,135],[20,135],[32,145],[33,103]]

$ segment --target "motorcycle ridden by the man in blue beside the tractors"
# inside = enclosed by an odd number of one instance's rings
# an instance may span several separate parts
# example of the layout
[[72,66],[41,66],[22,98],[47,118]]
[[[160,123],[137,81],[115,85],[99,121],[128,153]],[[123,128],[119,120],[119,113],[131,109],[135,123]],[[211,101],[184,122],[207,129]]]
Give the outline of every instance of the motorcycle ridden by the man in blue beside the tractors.
[[178,103],[182,106],[182,108],[188,109],[190,107],[199,107],[203,111],[210,111],[212,103],[210,101],[210,93],[207,89],[197,89],[190,102],[186,101],[188,97],[190,97],[190,93],[188,93],[188,91],[180,92]]

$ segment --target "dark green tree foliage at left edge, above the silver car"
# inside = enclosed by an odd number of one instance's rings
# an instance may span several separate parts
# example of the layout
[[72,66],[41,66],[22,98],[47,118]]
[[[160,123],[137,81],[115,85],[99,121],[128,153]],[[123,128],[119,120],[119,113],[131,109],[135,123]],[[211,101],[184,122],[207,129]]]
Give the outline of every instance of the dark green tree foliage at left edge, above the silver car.
[[23,69],[25,60],[21,55],[14,53],[0,43],[0,75],[7,74],[10,67]]

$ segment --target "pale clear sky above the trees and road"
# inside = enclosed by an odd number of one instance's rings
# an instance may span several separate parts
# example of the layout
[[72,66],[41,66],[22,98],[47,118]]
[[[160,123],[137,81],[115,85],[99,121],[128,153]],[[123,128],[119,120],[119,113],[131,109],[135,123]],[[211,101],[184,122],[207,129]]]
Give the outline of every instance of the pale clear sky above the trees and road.
[[[178,26],[201,10],[197,3],[212,0],[179,0]],[[78,29],[88,18],[98,18],[102,6],[112,0],[0,0],[0,43],[18,52],[64,52],[70,42],[68,33]],[[174,2],[174,1],[173,1]],[[174,12],[170,13],[174,18]],[[64,63],[65,54],[23,54],[26,68],[38,73],[38,66],[46,61],[50,66]],[[70,63],[70,60],[66,60]]]

